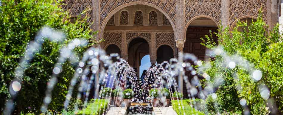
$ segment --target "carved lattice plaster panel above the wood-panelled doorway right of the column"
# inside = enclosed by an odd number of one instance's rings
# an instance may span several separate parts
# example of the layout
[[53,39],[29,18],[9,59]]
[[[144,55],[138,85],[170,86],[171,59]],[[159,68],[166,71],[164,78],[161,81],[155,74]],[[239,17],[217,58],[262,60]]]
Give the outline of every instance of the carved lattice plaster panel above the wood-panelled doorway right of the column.
[[221,0],[186,0],[186,24],[195,16],[206,15],[219,23],[221,17]]

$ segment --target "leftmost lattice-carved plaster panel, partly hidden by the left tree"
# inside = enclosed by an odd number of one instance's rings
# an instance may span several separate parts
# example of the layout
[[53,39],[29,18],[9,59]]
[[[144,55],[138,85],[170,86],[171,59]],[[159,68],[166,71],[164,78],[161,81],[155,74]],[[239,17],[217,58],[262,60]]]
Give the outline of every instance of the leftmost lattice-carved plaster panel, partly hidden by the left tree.
[[[61,7],[64,10],[69,10],[70,15],[80,15],[84,10],[91,9],[91,0],[64,0]],[[89,16],[88,22],[92,22],[91,18],[92,10],[88,10],[81,16],[85,17],[86,14]]]

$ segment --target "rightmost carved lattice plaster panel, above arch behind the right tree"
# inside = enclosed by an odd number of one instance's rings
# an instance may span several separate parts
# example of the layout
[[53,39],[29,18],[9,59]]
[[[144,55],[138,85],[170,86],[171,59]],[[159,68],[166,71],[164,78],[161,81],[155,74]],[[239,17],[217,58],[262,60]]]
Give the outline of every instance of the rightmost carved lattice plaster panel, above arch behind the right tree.
[[267,0],[230,0],[229,7],[229,25],[237,18],[242,16],[257,17],[259,9],[262,7],[263,19],[267,22]]

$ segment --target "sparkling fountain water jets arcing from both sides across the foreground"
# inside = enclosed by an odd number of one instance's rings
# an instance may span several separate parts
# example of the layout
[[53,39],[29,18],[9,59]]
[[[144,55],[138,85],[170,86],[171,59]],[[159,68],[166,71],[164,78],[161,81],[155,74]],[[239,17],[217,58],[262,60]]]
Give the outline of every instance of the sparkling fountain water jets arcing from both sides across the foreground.
[[[41,44],[44,42],[43,38],[50,38],[50,40],[61,41],[64,38],[64,34],[46,27],[40,31],[35,41],[30,42],[30,44],[27,46],[25,56],[21,59],[21,62],[19,62],[19,66],[15,68],[15,79],[12,82],[12,87],[10,87],[10,94],[12,95],[12,98],[6,102],[4,115],[10,115],[12,113],[14,109],[13,99],[15,99],[17,93],[21,90],[21,76],[24,74],[24,69],[29,67],[29,61],[32,60],[34,53],[38,52],[38,50],[35,49],[40,49]],[[164,61],[163,63],[158,64],[157,66],[152,65],[150,68],[147,69],[147,73],[144,77],[144,82],[142,83],[142,85],[140,85],[138,81],[139,77],[136,75],[134,68],[130,67],[127,61],[120,58],[118,54],[111,54],[110,56],[107,56],[104,50],[91,47],[87,51],[85,51],[82,59],[76,60],[77,58],[74,58],[76,56],[74,55],[74,53],[72,53],[72,50],[75,47],[85,46],[86,44],[87,42],[83,39],[75,39],[74,41],[70,42],[69,45],[61,49],[59,59],[54,65],[52,71],[53,75],[50,81],[48,82],[46,96],[43,99],[43,105],[41,108],[42,113],[47,110],[49,103],[52,101],[52,90],[57,83],[58,74],[63,71],[62,64],[66,62],[67,59],[70,59],[73,62],[78,62],[78,65],[76,68],[76,72],[70,82],[68,93],[66,95],[66,100],[64,102],[65,109],[67,109],[69,105],[70,99],[72,98],[74,86],[77,83],[79,83],[79,92],[77,93],[76,98],[83,98],[81,94],[83,92],[86,92],[84,97],[85,106],[88,103],[90,93],[95,94],[95,99],[110,99],[113,102],[113,107],[121,107],[125,105],[123,103],[124,90],[129,88],[133,89],[134,96],[131,99],[132,102],[147,102],[146,98],[149,95],[152,95],[149,93],[150,89],[157,89],[156,93],[158,93],[157,97],[159,98],[159,103],[153,106],[160,107],[163,114],[166,115],[169,112],[167,109],[169,105],[166,102],[166,94],[164,90],[161,89],[168,88],[170,92],[170,99],[172,100],[173,92],[178,91],[178,84],[176,78],[184,78],[188,97],[192,100],[194,100],[195,98],[205,99],[208,94],[214,94],[215,97],[214,89],[215,87],[217,87],[217,85],[219,86],[221,84],[221,82],[207,84],[206,87],[202,89],[202,87],[200,86],[200,78],[197,76],[196,70],[191,65],[198,65],[199,73],[202,73],[206,79],[209,79],[209,76],[202,70],[203,68],[208,68],[209,66],[204,65],[193,54],[184,54],[182,60],[170,59],[170,62]],[[207,52],[209,52],[212,56],[217,55],[224,57],[225,61],[223,63],[223,66],[229,67],[230,69],[235,68],[235,66],[237,65],[245,67],[251,72],[261,73],[261,71],[255,70],[254,67],[248,63],[248,61],[241,58],[240,56],[228,56],[223,51],[223,49],[221,49],[221,47]],[[193,76],[193,78],[189,78],[189,76],[186,75],[186,72],[189,72]],[[192,79],[191,82],[189,79]],[[219,79],[221,80],[222,78]],[[259,79],[261,79],[261,76],[254,76],[251,79],[255,79],[258,81]],[[92,84],[95,84],[96,86],[93,86]],[[212,84],[217,85],[215,86]],[[95,92],[90,92],[91,88],[93,87],[96,89]],[[110,91],[106,91],[105,88],[109,88]],[[263,88],[262,91],[269,92],[267,87]],[[113,92],[114,89],[116,89],[117,92]],[[115,94],[117,97],[111,98],[113,94]],[[269,95],[269,93],[263,94],[262,97],[264,99],[269,99]],[[177,100],[179,106],[178,108],[184,109],[183,102],[180,101],[181,98],[178,95]],[[103,103],[101,102],[101,105],[102,104]],[[109,101],[108,105],[110,104],[111,101]],[[192,104],[195,104],[195,102],[193,102]],[[245,99],[241,99],[240,104],[245,110],[249,110],[248,106],[246,106],[245,104]],[[78,105],[76,105],[75,107],[75,111],[77,111],[78,109],[77,106]],[[99,111],[102,113],[98,114],[105,115],[108,112],[109,108],[111,107],[107,106],[107,108],[103,108],[103,111]],[[139,108],[137,111],[139,111],[140,114],[144,114],[146,110]],[[113,111],[112,114],[118,115],[118,113],[113,113]]]

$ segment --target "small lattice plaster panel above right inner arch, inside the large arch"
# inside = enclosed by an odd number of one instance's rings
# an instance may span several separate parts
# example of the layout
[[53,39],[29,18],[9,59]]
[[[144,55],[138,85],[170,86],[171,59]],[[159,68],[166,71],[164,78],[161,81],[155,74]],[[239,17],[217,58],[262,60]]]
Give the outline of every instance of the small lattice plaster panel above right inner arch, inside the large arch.
[[172,48],[175,46],[174,33],[156,33],[156,48],[160,45],[169,45]]

